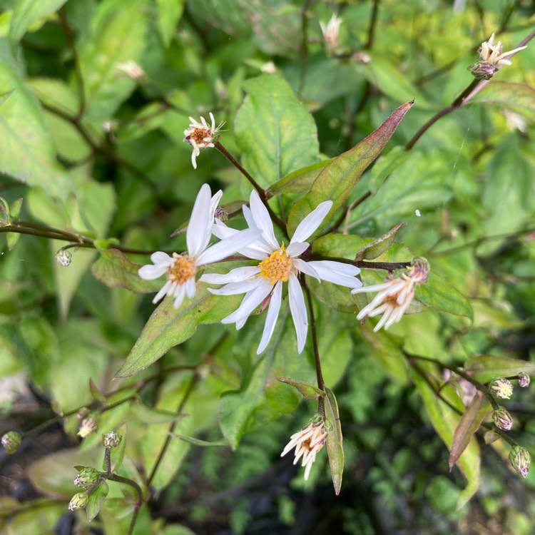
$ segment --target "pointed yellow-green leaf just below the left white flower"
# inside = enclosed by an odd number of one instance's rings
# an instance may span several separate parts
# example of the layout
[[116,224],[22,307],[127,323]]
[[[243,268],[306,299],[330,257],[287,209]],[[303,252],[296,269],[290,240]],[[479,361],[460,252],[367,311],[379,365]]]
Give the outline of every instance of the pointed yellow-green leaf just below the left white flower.
[[238,307],[238,296],[213,295],[202,282],[197,284],[193,299],[173,307],[173,299],[167,297],[148,319],[136,345],[116,377],[130,377],[156,362],[171,347],[192,337],[197,325],[217,323]]

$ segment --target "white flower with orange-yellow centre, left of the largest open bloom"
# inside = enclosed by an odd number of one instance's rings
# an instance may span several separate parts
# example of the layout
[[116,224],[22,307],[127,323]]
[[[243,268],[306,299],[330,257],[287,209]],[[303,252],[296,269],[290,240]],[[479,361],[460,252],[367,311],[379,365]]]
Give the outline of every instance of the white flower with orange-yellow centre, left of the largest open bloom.
[[153,303],[165,295],[174,297],[175,308],[180,307],[184,297],[195,295],[195,274],[202,265],[220,262],[238,249],[246,247],[260,235],[258,230],[240,230],[228,240],[221,240],[208,247],[214,224],[214,213],[223,192],[221,190],[211,196],[210,186],[204,184],[195,199],[190,222],[185,231],[188,252],[169,256],[163,251],[151,255],[153,265],[143,265],[138,275],[145,280],[153,280],[167,274],[167,280],[156,294]]

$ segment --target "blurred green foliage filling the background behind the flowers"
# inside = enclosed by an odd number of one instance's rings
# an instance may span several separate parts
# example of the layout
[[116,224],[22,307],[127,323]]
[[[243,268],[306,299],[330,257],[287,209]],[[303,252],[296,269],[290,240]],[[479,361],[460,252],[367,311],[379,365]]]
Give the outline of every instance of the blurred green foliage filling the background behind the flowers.
[[[340,45],[327,54],[319,21],[333,11],[343,18]],[[530,534],[533,474],[520,481],[507,444],[485,445],[480,434],[450,473],[459,417],[406,354],[455,366],[477,355],[533,359],[533,44],[412,151],[404,146],[471,83],[467,66],[482,41],[496,31],[513,49],[534,21],[530,2],[511,0],[468,1],[458,12],[438,0],[0,1],[1,195],[14,220],[94,238],[98,248],[71,250],[62,267],[55,255],[65,241],[14,233],[0,240],[0,431],[27,432],[61,415],[16,456],[0,458],[0,528],[48,534],[76,519],[80,533],[95,525],[126,533],[135,501],[127,486],[109,483],[91,524],[66,509],[76,492],[72,467],[99,468],[100,433],[121,429],[118,473],[151,486],[136,534]],[[117,68],[126,61],[145,76],[126,76]],[[311,285],[325,382],[345,439],[340,496],[325,452],[307,482],[290,459],[278,459],[316,410],[275,380],[315,380],[312,350],[297,355],[291,321],[277,324],[258,357],[264,318],[251,317],[237,333],[217,321],[238,300],[217,300],[215,309],[204,302],[195,319],[170,323],[163,358],[113,379],[153,312],[143,293],[155,288],[132,265],[148,256],[128,262],[113,244],[184,250],[184,235],[170,235],[188,220],[200,185],[223,188],[225,204],[250,193],[215,149],[202,151],[193,170],[183,143],[188,116],[212,111],[226,121],[224,146],[278,195],[274,208],[290,213],[295,228],[310,211],[299,207],[320,166],[290,173],[349,150],[413,98],[350,194],[350,203],[369,196],[343,220],[347,235],[314,244],[316,253],[355,258],[403,221],[377,260],[420,255],[432,266],[417,292],[424,312],[387,333],[337,310],[356,312],[364,300],[342,302],[332,285]],[[525,131],[511,128],[511,112]],[[381,277],[364,270],[362,280]],[[206,295],[201,285],[198,296]],[[464,407],[444,370],[424,371]],[[535,452],[533,394],[516,388],[504,405],[514,414],[511,436]],[[101,420],[80,442],[83,406],[100,410]],[[213,447],[173,437],[151,474],[170,425]]]

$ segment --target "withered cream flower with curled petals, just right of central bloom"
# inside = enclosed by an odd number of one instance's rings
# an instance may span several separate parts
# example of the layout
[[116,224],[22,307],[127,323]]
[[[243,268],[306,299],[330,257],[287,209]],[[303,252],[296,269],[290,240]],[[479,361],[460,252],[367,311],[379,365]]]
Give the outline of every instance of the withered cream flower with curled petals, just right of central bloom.
[[365,286],[351,290],[352,293],[379,292],[372,302],[357,315],[357,320],[382,314],[374,332],[384,326],[387,330],[394,322],[399,322],[414,299],[414,287],[427,281],[429,265],[423,258],[415,258],[412,266],[395,279],[387,279],[383,284]]

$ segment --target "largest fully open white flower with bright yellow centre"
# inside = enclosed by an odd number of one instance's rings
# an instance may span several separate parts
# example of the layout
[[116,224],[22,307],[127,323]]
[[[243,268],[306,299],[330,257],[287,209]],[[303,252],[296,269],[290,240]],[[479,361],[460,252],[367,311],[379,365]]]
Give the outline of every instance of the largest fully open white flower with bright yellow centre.
[[[290,301],[290,312],[297,333],[297,351],[302,352],[307,338],[308,320],[307,308],[305,307],[305,297],[298,276],[305,273],[317,280],[327,280],[335,284],[357,288],[362,286],[362,282],[355,278],[360,273],[360,269],[354,265],[330,260],[320,260],[305,262],[297,258],[309,248],[309,243],[305,240],[315,232],[320,223],[325,218],[332,206],[332,201],[327,200],[320,203],[295,229],[295,233],[285,248],[284,243],[280,245],[273,233],[273,224],[267,209],[258,197],[258,193],[253,191],[250,195],[250,208],[243,206],[243,215],[248,225],[252,229],[261,230],[261,238],[245,248],[239,248],[238,253],[260,260],[255,266],[237,267],[226,275],[208,274],[203,275],[200,280],[211,284],[224,284],[218,290],[210,289],[210,292],[218,295],[235,295],[245,293],[240,307],[229,316],[223,318],[222,323],[235,323],[237,329],[241,329],[249,315],[256,307],[269,302],[269,310],[265,319],[265,326],[258,346],[257,354],[260,355],[275,330],[275,323],[280,311],[282,301],[282,286],[288,283],[288,297]],[[232,239],[238,230],[228,228],[223,223],[218,223],[213,227],[213,233],[218,238]]]

